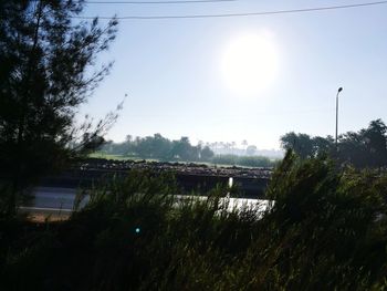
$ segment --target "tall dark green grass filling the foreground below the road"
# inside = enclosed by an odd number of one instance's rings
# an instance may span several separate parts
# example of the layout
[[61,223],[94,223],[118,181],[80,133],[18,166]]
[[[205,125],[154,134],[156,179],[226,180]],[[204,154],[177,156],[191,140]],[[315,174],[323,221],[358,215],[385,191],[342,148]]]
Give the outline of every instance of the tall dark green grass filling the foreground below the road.
[[[3,290],[386,290],[387,176],[287,154],[266,195],[228,210],[132,173],[62,224],[4,232]],[[22,229],[22,230],[20,230]],[[13,236],[13,237],[12,237]],[[7,289],[8,288],[8,289]]]

